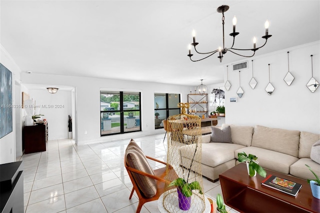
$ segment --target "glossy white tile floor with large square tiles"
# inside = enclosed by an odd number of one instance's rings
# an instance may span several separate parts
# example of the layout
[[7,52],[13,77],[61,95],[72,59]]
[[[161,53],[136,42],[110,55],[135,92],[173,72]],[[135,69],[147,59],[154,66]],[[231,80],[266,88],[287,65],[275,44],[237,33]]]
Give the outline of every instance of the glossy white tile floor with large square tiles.
[[[164,134],[134,138],[146,155],[166,161]],[[123,165],[129,139],[76,145],[71,139],[50,140],[43,152],[24,154],[25,212],[135,212],[129,200],[132,183]],[[156,165],[151,165],[157,168]],[[203,177],[205,195],[215,201],[219,182]],[[229,212],[236,212],[228,208]],[[157,201],[141,212],[159,212]]]

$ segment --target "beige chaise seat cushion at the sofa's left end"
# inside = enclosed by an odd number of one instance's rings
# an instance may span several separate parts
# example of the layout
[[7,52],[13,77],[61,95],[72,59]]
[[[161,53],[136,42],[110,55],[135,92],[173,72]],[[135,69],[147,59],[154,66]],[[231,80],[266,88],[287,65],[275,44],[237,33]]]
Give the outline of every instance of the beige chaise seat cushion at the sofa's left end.
[[234,159],[234,150],[245,147],[221,142],[202,143],[201,145],[201,163],[212,167]]

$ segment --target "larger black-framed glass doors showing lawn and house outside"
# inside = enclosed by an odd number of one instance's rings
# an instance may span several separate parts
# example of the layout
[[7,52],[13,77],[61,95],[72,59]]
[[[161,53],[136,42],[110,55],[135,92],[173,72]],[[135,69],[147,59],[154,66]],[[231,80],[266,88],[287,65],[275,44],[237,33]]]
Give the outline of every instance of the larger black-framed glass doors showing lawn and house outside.
[[140,92],[100,91],[101,136],[141,131]]

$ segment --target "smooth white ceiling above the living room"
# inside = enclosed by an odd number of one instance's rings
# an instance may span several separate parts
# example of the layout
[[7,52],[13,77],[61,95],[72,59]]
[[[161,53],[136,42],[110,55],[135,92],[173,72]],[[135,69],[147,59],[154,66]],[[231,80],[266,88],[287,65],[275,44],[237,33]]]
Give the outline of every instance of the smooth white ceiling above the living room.
[[[227,52],[199,62],[187,57],[196,31],[197,48],[222,46],[225,12],[228,47],[236,15],[235,48],[267,44],[256,55],[320,39],[319,0],[0,0],[0,43],[22,72],[139,80],[180,85],[223,81],[223,64],[242,57]],[[193,51],[194,52],[194,51]],[[198,55],[194,55],[194,59]],[[222,66],[221,66],[222,65]]]

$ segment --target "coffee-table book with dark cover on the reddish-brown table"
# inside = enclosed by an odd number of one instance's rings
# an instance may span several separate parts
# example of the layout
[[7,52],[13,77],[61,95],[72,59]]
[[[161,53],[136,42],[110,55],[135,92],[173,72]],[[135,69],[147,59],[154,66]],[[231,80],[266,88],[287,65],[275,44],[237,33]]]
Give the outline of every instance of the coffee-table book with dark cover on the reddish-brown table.
[[272,174],[268,175],[261,184],[292,196],[296,196],[302,186],[300,183],[274,176]]

